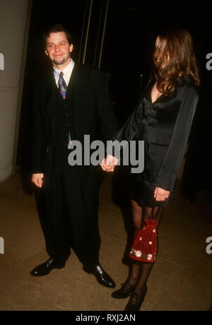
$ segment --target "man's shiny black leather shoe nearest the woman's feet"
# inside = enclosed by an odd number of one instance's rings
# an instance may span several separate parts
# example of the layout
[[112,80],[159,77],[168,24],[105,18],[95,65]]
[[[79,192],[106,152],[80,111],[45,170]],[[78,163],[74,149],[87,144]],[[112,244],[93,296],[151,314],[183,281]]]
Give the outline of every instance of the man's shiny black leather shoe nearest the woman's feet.
[[97,265],[93,268],[83,266],[83,270],[89,274],[92,273],[100,285],[104,285],[107,288],[115,288],[116,285],[114,283],[114,280],[112,280],[112,278],[110,278],[110,276],[103,270],[102,266]]

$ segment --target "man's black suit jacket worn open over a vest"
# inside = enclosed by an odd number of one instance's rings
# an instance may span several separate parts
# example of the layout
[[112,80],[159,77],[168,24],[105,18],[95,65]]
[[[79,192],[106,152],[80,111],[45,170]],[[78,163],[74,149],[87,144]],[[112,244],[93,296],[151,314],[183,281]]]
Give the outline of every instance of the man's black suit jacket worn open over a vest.
[[[31,172],[44,173],[49,184],[54,166],[56,146],[56,100],[58,91],[53,69],[35,86],[33,100],[33,143]],[[117,131],[112,102],[107,90],[107,76],[96,69],[75,64],[66,96],[72,98],[73,140],[83,143],[84,135],[90,142],[111,139]],[[68,157],[67,157],[68,158]],[[79,168],[83,189],[88,192],[95,184],[100,167]]]

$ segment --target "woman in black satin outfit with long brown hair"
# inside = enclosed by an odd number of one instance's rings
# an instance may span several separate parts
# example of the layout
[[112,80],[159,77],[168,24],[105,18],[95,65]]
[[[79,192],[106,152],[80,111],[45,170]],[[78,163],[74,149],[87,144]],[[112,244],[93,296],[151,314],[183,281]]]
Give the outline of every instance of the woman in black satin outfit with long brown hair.
[[[172,201],[179,166],[187,146],[198,102],[199,71],[192,37],[183,29],[158,35],[153,54],[153,71],[136,109],[114,140],[144,140],[144,170],[129,173],[129,198],[134,236],[150,217],[160,222],[164,208]],[[107,155],[102,169],[114,170],[117,158]],[[129,276],[114,298],[130,300],[125,310],[139,310],[146,295],[146,281],[154,263],[131,261]]]

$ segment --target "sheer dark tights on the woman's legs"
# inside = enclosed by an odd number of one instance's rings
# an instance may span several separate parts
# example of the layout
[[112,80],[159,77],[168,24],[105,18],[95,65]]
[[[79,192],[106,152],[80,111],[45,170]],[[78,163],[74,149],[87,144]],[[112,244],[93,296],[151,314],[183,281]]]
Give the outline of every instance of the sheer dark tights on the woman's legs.
[[[160,208],[158,211],[158,216],[156,220],[158,221],[158,224],[160,222],[161,215],[163,214],[163,208],[155,206],[154,208],[154,215],[156,211]],[[151,207],[141,207],[139,206],[136,201],[131,200],[131,215],[132,215],[132,223],[133,223],[133,235],[135,236],[141,228],[143,228],[143,225],[145,221],[150,217],[151,215]],[[157,225],[157,232],[158,232],[158,225]],[[158,247],[158,237],[157,237],[157,247]],[[151,273],[151,270],[153,268],[153,263],[134,263],[131,262],[129,266],[129,276],[127,279],[128,283],[131,283],[131,285],[135,285],[134,292],[139,293],[144,288],[144,285],[146,285],[146,281],[148,279],[148,276]]]

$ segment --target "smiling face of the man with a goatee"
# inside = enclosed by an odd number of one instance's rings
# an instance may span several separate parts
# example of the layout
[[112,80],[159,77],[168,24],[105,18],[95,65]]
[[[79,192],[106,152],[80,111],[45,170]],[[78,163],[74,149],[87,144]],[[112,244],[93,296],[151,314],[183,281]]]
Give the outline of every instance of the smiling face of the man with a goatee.
[[45,53],[53,65],[59,66],[70,61],[73,45],[69,45],[64,32],[52,32],[47,38]]

